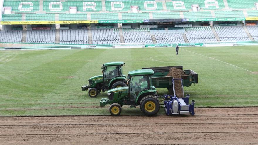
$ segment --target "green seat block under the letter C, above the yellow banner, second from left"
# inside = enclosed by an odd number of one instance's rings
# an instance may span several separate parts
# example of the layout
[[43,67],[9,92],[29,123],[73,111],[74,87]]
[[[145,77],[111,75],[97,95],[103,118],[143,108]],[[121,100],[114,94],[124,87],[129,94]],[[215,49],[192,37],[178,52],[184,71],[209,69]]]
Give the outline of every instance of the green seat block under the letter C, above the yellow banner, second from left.
[[55,21],[55,14],[26,14],[26,21]]

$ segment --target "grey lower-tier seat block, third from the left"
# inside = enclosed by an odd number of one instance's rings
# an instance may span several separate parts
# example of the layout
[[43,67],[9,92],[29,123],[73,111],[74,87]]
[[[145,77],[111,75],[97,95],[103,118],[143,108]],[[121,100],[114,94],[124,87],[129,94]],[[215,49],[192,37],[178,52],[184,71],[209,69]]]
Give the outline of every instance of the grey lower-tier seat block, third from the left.
[[60,30],[60,44],[88,44],[88,30]]

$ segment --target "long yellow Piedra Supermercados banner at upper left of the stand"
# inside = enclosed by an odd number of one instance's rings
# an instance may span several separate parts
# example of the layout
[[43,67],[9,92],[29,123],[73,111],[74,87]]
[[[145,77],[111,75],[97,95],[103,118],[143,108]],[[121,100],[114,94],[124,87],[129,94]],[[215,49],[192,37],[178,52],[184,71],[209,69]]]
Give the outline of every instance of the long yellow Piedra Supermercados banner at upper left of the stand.
[[98,23],[98,20],[85,21],[2,21],[1,25],[33,25],[33,24],[84,24]]

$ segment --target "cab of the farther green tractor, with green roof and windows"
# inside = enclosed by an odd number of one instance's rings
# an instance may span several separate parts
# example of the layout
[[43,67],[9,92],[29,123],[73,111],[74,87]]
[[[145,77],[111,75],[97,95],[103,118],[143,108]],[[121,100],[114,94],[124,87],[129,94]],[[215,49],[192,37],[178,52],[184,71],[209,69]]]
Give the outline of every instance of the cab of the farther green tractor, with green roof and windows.
[[[108,62],[103,64],[102,66],[102,73],[103,73],[103,90],[110,89],[110,82],[114,78],[125,77],[123,75],[122,66],[124,62]],[[121,87],[121,86],[118,86]]]

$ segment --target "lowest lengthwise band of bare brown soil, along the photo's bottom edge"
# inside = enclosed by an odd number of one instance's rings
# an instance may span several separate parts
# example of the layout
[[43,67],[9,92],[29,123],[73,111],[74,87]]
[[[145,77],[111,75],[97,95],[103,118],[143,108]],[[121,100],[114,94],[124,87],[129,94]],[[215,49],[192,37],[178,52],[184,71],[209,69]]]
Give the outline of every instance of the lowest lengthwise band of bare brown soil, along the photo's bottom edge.
[[257,132],[1,136],[3,144],[256,144]]

